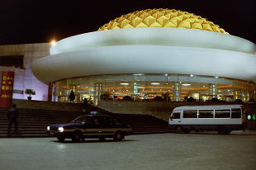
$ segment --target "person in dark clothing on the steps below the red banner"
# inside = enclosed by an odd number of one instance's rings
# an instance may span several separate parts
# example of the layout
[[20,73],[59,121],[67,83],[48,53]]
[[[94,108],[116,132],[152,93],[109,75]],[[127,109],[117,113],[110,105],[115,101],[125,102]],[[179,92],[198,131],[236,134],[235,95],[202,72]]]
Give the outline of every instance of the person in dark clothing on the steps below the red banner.
[[12,127],[12,123],[15,125],[15,133],[18,130],[18,122],[17,122],[17,117],[19,116],[19,111],[16,108],[16,104],[12,105],[12,109],[10,109],[7,113],[7,118],[8,118],[8,129],[7,129],[7,135],[10,135],[10,130]]

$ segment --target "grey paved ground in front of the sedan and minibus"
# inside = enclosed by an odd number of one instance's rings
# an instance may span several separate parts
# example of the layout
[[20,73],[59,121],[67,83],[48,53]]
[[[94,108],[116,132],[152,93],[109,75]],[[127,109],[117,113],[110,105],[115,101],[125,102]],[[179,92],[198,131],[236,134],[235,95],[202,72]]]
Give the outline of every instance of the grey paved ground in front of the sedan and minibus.
[[256,131],[130,135],[121,142],[0,139],[0,169],[255,169]]

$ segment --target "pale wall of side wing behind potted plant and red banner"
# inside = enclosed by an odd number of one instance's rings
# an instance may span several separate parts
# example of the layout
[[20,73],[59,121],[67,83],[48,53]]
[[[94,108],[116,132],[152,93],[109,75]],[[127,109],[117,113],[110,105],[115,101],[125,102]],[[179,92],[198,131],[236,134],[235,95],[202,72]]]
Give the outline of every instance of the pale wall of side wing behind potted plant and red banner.
[[[2,67],[0,64],[0,75],[2,71],[15,72],[14,89],[25,92],[26,88],[31,88],[36,91],[36,95],[32,96],[32,100],[47,101],[48,100],[48,86],[41,83],[31,72],[30,65],[36,61],[50,54],[50,43],[40,44],[26,44],[26,45],[0,45],[0,56],[8,55],[23,55],[24,69]],[[27,99],[24,93],[13,94],[15,99]]]

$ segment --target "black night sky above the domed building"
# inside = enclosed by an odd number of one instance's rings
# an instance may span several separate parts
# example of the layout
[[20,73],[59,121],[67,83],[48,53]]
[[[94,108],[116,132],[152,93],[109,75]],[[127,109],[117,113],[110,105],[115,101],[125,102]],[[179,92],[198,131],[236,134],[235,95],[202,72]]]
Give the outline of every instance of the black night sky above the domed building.
[[0,45],[62,40],[149,8],[195,13],[256,44],[255,0],[0,0]]

